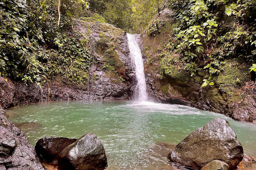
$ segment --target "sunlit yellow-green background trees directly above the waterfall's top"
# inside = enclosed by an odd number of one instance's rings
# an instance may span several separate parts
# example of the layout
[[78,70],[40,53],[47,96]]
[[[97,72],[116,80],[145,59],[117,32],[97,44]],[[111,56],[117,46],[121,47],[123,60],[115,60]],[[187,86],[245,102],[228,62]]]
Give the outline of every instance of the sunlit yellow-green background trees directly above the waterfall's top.
[[[141,34],[166,0],[88,0],[90,10],[130,33]],[[159,7],[159,8],[158,8]]]

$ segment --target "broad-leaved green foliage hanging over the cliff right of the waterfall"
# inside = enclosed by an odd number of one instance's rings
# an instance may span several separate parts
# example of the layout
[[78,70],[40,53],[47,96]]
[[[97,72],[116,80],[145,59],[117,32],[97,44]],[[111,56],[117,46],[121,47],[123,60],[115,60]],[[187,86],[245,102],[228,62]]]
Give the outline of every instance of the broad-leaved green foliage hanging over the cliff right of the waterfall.
[[[224,71],[227,59],[240,58],[248,68],[255,63],[255,0],[171,0],[168,6],[173,9],[175,23],[161,53],[167,74],[175,66],[191,76],[205,72],[212,77]],[[213,82],[205,79],[202,86],[207,84]]]

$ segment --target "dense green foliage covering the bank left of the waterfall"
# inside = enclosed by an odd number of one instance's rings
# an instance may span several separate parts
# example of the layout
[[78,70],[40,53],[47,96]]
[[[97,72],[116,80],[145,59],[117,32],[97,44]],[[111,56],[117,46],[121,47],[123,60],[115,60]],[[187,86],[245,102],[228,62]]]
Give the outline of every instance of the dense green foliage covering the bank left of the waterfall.
[[[41,75],[56,74],[70,81],[84,81],[89,55],[80,35],[68,37],[64,30],[72,26],[71,17],[81,16],[88,4],[81,1],[58,2],[2,0],[0,2],[0,74],[4,77],[37,82]],[[81,77],[81,75],[83,75]]]

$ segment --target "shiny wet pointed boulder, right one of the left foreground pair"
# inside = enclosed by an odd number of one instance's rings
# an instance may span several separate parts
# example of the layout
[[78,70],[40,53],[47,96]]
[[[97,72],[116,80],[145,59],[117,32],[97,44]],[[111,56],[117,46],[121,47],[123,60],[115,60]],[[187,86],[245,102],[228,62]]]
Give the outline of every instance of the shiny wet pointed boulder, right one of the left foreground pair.
[[107,167],[103,144],[93,133],[87,133],[59,154],[61,170],[97,170]]

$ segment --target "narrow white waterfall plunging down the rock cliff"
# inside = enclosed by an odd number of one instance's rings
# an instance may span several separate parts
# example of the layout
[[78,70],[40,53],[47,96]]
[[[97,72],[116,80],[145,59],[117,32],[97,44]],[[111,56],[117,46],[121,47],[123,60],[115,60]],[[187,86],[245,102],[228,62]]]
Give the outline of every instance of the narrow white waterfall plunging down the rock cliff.
[[147,86],[146,86],[146,79],[144,74],[144,65],[143,65],[143,59],[140,51],[140,47],[137,43],[137,39],[140,35],[132,35],[127,34],[128,38],[128,45],[130,49],[130,56],[133,59],[135,63],[135,71],[136,71],[136,79],[137,79],[137,98],[140,102],[147,101]]

